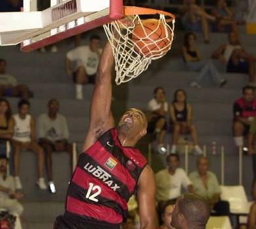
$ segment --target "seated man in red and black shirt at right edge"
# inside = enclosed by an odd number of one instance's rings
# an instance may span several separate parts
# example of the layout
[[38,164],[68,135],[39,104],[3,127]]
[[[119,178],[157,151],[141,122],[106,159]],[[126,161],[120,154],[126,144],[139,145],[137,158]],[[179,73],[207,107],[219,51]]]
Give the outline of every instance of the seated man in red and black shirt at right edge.
[[253,117],[256,116],[256,99],[253,87],[246,86],[242,89],[243,97],[234,101],[232,131],[234,144],[244,146],[244,136],[248,135]]

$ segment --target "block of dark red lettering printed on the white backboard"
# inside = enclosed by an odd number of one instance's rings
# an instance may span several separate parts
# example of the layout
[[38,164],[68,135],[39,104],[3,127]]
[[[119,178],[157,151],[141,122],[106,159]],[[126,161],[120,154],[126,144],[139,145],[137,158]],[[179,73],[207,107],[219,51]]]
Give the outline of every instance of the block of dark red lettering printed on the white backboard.
[[52,21],[69,16],[77,12],[76,0],[65,2],[57,7],[52,8]]

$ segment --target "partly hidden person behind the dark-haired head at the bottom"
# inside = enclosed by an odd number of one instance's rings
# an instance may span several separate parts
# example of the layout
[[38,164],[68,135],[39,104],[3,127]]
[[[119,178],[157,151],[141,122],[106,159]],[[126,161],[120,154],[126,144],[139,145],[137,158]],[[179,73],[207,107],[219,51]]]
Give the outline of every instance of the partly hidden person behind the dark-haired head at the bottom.
[[161,221],[157,229],[174,229],[170,223],[172,222],[172,211],[174,209],[175,200],[169,200],[163,202],[160,212],[161,212]]

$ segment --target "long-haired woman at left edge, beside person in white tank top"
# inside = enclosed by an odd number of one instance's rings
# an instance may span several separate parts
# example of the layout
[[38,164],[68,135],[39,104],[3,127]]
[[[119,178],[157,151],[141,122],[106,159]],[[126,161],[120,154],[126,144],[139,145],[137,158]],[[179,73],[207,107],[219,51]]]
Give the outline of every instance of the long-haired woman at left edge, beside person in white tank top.
[[10,104],[5,98],[0,98],[0,155],[6,155],[6,143],[12,139],[14,120]]

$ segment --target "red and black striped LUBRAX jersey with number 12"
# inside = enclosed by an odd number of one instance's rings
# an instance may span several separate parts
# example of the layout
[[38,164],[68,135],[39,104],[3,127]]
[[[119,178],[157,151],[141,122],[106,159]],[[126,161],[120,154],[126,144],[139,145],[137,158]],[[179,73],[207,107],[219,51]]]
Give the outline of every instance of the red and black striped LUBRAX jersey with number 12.
[[65,216],[120,224],[146,163],[139,150],[121,145],[116,128],[106,131],[80,154],[67,193]]

